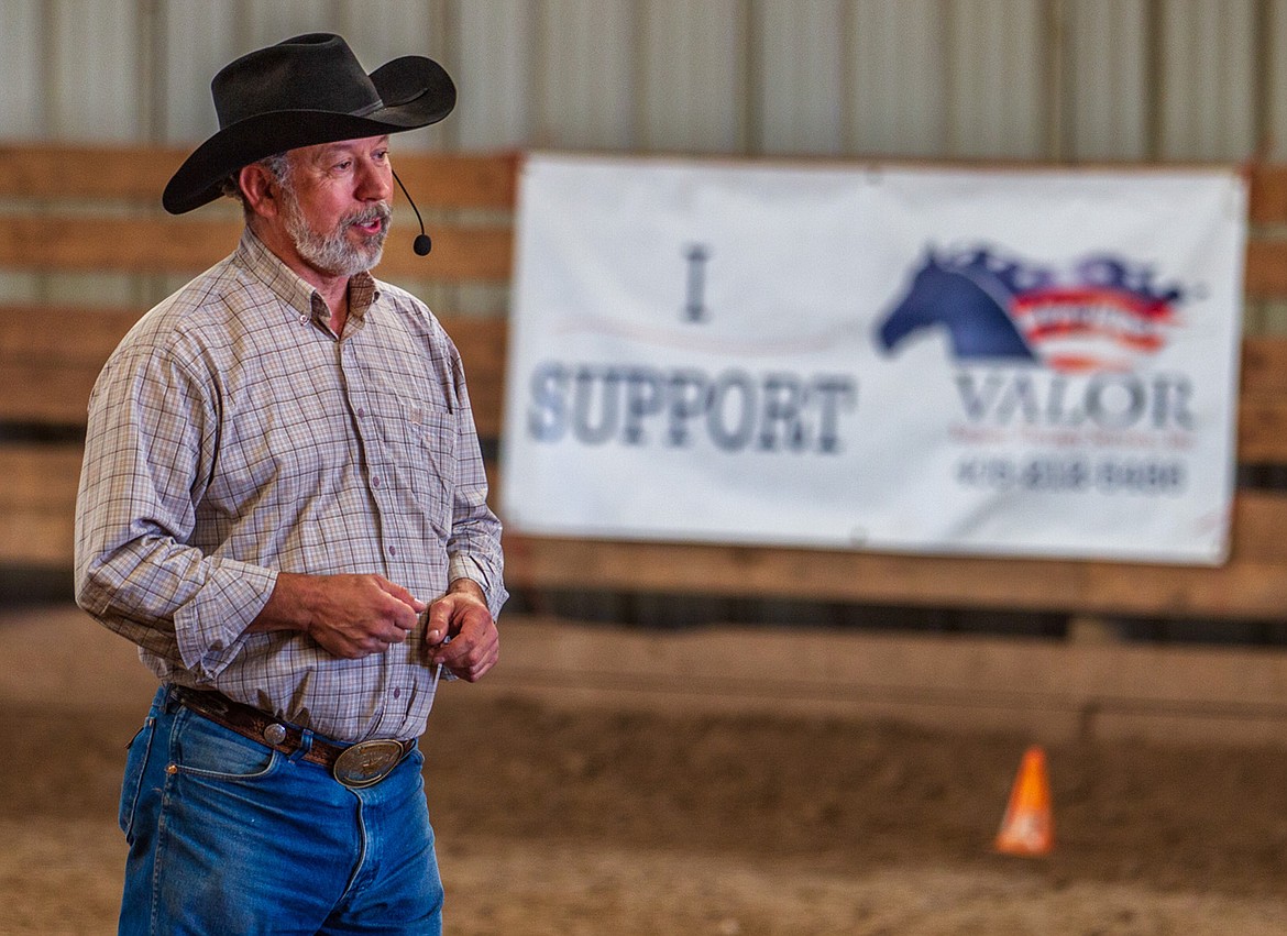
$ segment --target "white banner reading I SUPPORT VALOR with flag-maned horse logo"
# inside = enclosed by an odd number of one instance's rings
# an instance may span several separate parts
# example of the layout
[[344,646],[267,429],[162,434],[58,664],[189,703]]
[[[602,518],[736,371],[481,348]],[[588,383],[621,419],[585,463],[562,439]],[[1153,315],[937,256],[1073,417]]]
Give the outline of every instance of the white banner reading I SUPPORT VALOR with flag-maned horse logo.
[[506,520],[1219,563],[1245,239],[1233,171],[533,156]]

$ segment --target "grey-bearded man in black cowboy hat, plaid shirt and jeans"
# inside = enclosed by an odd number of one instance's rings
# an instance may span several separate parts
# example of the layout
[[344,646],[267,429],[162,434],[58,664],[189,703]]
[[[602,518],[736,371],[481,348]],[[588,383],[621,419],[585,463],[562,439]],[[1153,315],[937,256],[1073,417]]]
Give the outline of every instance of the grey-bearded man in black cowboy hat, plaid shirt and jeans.
[[499,524],[459,357],[380,260],[421,57],[250,53],[170,180],[241,200],[232,256],[152,309],[90,399],[81,606],[162,685],[130,745],[122,933],[439,932],[416,738],[497,662]]

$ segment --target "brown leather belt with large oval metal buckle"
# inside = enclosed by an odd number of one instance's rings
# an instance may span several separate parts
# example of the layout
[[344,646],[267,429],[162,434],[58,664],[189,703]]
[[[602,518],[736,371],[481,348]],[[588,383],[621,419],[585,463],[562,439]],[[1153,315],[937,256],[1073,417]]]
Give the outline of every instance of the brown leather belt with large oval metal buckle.
[[[234,702],[223,693],[178,685],[172,685],[170,691],[185,708],[266,748],[295,754],[304,747],[301,727],[274,718],[254,706]],[[336,780],[354,788],[380,783],[416,748],[414,738],[404,742],[377,738],[356,744],[333,744],[313,735],[311,742],[301,756],[302,760],[320,763]]]

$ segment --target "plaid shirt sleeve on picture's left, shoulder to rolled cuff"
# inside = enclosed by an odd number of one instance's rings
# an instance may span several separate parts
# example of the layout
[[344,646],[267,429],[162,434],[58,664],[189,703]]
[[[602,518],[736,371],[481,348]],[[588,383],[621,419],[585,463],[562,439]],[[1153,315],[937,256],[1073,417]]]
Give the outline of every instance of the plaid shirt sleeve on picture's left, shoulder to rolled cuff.
[[76,510],[76,600],[107,627],[201,679],[238,653],[277,573],[189,543],[218,444],[215,393],[145,342],[90,397]]

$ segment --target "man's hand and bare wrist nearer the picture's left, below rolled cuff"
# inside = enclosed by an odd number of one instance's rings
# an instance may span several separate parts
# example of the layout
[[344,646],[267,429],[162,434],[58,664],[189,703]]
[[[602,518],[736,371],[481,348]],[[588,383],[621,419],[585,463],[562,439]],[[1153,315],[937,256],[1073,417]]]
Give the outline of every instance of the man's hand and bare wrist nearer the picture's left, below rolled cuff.
[[402,644],[427,605],[381,576],[302,576],[283,572],[250,632],[304,631],[345,659]]

